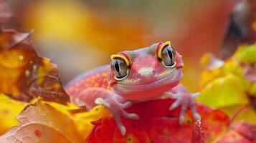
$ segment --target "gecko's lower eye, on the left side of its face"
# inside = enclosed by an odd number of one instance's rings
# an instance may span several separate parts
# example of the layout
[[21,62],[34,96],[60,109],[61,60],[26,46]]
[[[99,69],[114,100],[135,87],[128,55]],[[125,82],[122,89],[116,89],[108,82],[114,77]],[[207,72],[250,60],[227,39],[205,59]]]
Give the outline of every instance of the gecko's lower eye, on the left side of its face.
[[124,59],[115,57],[110,66],[116,80],[121,81],[128,77],[129,68]]

